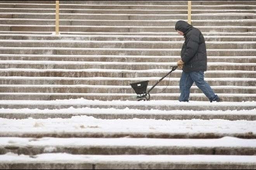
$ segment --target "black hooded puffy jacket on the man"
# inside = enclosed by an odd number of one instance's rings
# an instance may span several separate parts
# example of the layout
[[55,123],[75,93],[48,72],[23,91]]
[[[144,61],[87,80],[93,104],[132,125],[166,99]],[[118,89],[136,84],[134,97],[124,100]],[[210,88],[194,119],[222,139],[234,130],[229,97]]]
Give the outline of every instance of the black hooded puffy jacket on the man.
[[206,45],[201,31],[181,20],[176,22],[175,30],[182,31],[185,38],[181,51],[181,59],[184,62],[182,70],[184,72],[206,71]]

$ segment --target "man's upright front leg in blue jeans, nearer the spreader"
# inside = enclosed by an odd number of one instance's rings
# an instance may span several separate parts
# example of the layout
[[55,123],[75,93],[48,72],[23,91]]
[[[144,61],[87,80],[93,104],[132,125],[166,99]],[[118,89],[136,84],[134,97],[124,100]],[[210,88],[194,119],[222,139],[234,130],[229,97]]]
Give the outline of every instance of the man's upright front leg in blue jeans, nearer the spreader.
[[189,101],[190,88],[193,84],[193,80],[189,76],[189,73],[182,72],[180,77],[180,98],[179,101]]

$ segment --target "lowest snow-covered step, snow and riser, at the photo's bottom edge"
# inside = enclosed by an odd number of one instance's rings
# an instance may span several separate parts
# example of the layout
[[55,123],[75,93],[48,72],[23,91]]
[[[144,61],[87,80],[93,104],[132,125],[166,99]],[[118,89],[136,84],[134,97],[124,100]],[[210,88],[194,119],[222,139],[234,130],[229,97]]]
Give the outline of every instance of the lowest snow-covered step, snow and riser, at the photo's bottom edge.
[[[255,156],[237,155],[42,155],[0,156],[6,169],[253,169]],[[12,161],[10,161],[12,160]],[[239,160],[239,161],[238,161]],[[26,161],[26,163],[24,163]]]

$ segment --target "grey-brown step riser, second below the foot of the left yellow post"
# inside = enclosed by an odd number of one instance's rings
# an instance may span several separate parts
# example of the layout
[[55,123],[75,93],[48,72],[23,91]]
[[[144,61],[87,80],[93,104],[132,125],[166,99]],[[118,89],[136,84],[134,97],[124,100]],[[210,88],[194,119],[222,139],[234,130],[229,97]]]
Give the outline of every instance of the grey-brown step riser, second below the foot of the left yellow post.
[[[76,42],[1,42],[2,47],[69,47],[69,48],[149,48],[149,49],[161,49],[161,48],[182,48],[183,41],[177,43],[161,43],[161,42],[119,42],[119,43],[109,43],[109,42],[88,42],[88,43],[76,43]],[[208,49],[256,49],[256,43],[251,41],[250,43],[211,43],[206,42],[206,47]]]

